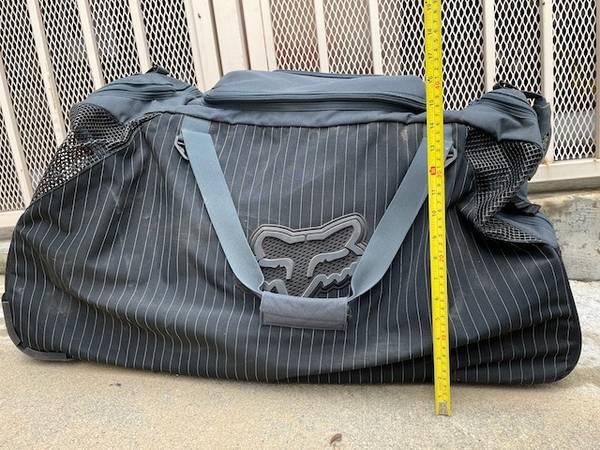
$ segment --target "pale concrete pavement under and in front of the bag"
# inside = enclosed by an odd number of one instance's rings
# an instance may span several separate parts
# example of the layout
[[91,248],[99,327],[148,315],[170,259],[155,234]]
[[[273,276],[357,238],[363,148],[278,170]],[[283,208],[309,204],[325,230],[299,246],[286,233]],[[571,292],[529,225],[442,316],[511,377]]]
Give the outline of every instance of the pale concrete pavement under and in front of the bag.
[[37,362],[2,326],[0,447],[591,449],[600,283],[572,287],[584,328],[574,372],[550,385],[457,385],[451,418],[432,414],[431,386],[264,385]]

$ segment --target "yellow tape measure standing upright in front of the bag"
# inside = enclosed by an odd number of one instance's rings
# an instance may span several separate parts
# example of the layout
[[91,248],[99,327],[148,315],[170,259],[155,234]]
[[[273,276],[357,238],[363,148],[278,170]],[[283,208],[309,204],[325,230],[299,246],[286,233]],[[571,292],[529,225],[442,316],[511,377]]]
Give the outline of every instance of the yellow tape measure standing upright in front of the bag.
[[435,413],[450,415],[450,344],[446,277],[446,195],[444,183],[444,90],[442,2],[425,1],[425,92],[427,96],[427,185]]

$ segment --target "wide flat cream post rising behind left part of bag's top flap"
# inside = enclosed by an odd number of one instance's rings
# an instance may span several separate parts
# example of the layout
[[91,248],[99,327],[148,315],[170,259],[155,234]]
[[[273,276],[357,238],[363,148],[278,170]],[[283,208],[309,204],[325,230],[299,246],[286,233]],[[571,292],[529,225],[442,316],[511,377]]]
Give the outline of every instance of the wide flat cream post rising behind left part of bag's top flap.
[[223,73],[247,69],[248,55],[240,3],[238,0],[219,0],[212,5]]

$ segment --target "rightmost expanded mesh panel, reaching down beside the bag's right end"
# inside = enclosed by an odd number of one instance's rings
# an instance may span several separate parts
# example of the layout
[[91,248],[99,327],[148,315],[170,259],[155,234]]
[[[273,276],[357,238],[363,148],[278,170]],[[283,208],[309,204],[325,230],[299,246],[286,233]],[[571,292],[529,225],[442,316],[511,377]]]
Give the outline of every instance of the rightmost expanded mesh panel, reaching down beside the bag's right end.
[[594,156],[596,2],[554,0],[554,154]]

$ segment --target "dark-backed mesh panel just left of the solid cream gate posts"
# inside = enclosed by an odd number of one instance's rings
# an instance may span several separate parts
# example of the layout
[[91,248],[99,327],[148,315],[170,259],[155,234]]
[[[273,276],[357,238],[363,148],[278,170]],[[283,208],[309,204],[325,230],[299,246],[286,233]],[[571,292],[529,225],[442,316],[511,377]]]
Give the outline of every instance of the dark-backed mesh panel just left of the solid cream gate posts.
[[183,0],[142,0],[148,51],[175,78],[196,83]]

